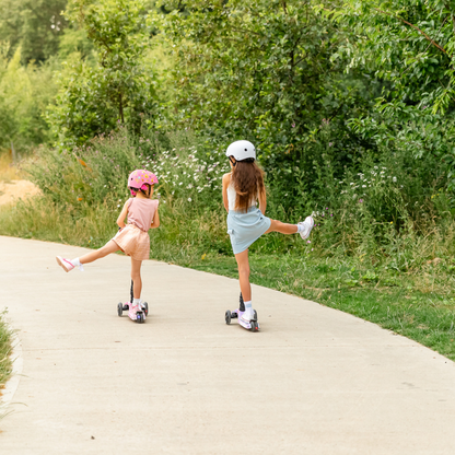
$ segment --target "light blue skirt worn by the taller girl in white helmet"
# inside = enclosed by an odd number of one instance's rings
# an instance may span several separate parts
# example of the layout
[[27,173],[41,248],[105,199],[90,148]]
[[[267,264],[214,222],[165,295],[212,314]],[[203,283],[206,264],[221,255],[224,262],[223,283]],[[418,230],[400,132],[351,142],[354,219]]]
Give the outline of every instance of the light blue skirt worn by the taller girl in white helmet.
[[228,234],[234,255],[248,249],[269,228],[271,221],[262,212],[250,207],[246,213],[230,210],[228,214]]

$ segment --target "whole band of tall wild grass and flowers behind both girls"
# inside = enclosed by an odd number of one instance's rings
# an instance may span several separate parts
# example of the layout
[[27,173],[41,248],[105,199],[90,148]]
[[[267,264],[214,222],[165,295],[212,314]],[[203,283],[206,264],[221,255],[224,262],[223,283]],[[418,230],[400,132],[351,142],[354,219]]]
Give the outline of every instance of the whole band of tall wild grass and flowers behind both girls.
[[[312,240],[302,243],[298,236],[270,234],[252,250],[349,256],[400,271],[453,256],[454,220],[438,170],[415,171],[404,156],[384,153],[376,160],[365,156],[359,172],[349,168],[340,180],[330,153],[323,155],[326,162],[314,182],[320,194],[305,192],[296,207],[285,203],[285,187],[277,186],[283,182],[268,178],[268,215],[296,223],[313,212]],[[231,254],[221,197],[221,177],[229,171],[224,148],[188,131],[147,130],[138,138],[119,128],[72,151],[40,148],[25,170],[43,197],[19,202],[8,213],[3,209],[0,229],[100,246],[116,232],[115,220],[129,197],[127,176],[135,168],[148,168],[160,180],[155,197],[163,223],[151,233],[154,250],[172,244],[197,254]]]

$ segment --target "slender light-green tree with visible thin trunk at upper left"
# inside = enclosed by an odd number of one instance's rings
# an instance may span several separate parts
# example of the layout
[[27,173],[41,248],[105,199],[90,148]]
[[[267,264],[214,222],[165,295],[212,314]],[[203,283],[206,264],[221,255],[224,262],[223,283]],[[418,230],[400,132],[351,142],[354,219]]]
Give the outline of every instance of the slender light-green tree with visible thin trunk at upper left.
[[68,18],[79,21],[95,50],[95,63],[81,61],[61,73],[57,105],[48,117],[60,145],[80,145],[115,129],[117,121],[139,132],[155,105],[150,43],[142,0],[73,0]]

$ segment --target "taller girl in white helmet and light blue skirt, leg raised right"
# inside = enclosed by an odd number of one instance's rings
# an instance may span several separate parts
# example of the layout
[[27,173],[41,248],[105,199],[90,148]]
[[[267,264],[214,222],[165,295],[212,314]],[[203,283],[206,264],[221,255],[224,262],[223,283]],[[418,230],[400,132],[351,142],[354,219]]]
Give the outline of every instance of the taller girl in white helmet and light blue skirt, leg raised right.
[[245,303],[245,312],[240,312],[238,322],[243,327],[250,328],[250,322],[256,318],[249,284],[249,245],[269,232],[300,233],[302,238],[307,238],[314,226],[314,220],[312,217],[306,217],[303,222],[288,224],[265,215],[267,197],[264,173],[256,164],[256,150],[252,142],[231,143],[226,156],[231,162],[231,172],[223,175],[223,202],[228,211],[228,233],[237,261],[238,281]]

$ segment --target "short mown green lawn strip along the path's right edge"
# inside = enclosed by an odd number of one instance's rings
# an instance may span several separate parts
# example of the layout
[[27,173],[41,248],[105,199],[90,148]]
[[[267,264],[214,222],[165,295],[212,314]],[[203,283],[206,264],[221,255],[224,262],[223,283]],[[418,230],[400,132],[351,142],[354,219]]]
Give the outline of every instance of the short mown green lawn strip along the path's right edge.
[[[234,257],[161,257],[236,278]],[[252,282],[353,314],[455,361],[455,267],[441,261],[413,273],[354,259],[250,255]]]

